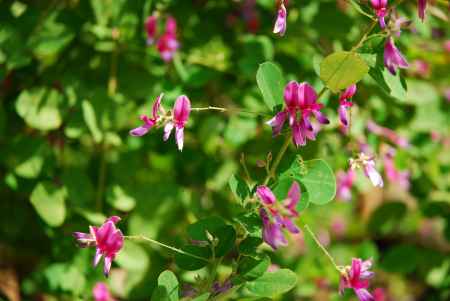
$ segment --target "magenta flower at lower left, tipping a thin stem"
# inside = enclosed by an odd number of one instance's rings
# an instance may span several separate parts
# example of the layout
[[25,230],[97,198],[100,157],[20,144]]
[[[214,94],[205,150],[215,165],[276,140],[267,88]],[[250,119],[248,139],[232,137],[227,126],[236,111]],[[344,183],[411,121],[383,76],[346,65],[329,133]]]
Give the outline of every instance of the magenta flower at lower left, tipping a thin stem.
[[97,266],[102,256],[104,256],[103,273],[106,277],[108,277],[112,261],[123,247],[123,234],[115,225],[119,221],[120,217],[112,216],[99,228],[89,226],[90,233],[73,233],[80,248],[96,247],[94,266]]

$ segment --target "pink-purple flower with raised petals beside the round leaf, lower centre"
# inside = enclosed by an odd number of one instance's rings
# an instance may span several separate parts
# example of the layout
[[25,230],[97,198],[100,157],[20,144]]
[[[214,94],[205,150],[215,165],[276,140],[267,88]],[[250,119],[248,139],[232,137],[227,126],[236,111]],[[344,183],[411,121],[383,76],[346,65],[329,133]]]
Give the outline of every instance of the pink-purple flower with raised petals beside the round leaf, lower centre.
[[[284,237],[282,229],[286,228],[294,234],[300,232],[292,220],[298,217],[296,206],[300,201],[300,185],[297,182],[292,183],[283,204],[277,203],[275,195],[267,186],[258,186],[256,195],[264,207],[259,211],[263,222],[264,241],[274,250],[279,246],[287,245],[287,240]],[[266,209],[270,212],[270,216],[267,214]]]

